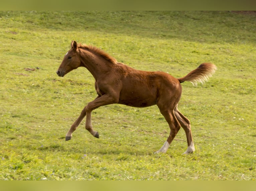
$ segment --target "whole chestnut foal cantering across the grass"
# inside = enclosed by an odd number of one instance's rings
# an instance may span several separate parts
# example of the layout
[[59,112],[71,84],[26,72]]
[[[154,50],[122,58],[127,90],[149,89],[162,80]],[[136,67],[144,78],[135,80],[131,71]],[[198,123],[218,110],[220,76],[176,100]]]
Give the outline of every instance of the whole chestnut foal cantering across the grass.
[[188,146],[183,154],[195,151],[190,122],[177,108],[181,96],[180,84],[189,81],[197,85],[198,82],[207,81],[217,69],[215,65],[201,64],[185,77],[176,79],[164,72],[135,70],[117,62],[116,59],[94,46],[72,41],[71,49],[64,56],[56,73],[64,77],[78,67],[87,68],[93,75],[98,96],[84,107],[77,120],[71,125],[66,134],[66,141],[72,138],[72,133],[85,116],[85,128],[99,138],[99,133],[93,130],[91,113],[100,106],[119,103],[133,107],[147,107],[156,104],[170,127],[169,137],[156,153],[167,151],[180,126],[186,133]]

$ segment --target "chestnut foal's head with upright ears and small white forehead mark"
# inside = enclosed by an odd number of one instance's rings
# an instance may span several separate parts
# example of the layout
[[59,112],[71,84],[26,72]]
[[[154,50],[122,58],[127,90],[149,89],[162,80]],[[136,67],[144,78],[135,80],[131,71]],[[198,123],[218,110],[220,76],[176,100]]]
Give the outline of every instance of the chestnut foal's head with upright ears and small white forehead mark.
[[65,54],[56,73],[58,76],[63,77],[70,71],[77,69],[80,65],[81,61],[78,55],[78,45],[76,41],[72,41],[71,49]]

